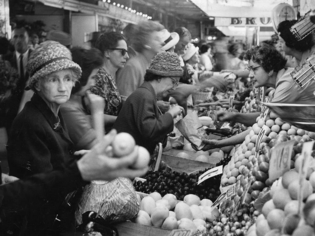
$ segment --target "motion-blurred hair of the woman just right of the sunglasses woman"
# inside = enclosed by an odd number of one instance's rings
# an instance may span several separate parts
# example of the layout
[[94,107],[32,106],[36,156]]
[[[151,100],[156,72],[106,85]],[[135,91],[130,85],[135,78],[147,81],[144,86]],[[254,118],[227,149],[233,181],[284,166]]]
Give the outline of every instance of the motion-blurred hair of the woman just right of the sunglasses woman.
[[158,22],[148,20],[142,21],[139,25],[136,25],[134,28],[134,37],[131,39],[134,49],[137,52],[142,52],[146,47],[145,45],[149,44],[150,35],[154,31],[161,31],[165,27]]

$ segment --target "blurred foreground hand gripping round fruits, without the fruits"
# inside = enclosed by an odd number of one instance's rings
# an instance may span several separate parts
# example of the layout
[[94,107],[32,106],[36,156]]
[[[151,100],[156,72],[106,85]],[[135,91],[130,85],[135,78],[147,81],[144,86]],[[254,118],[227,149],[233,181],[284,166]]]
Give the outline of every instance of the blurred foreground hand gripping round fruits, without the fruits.
[[129,167],[138,158],[138,146],[131,154],[119,158],[106,155],[107,147],[112,143],[116,134],[116,130],[111,130],[101,142],[77,161],[78,169],[85,181],[111,181],[117,177],[135,178],[145,175],[148,171],[148,166],[143,169],[131,169]]

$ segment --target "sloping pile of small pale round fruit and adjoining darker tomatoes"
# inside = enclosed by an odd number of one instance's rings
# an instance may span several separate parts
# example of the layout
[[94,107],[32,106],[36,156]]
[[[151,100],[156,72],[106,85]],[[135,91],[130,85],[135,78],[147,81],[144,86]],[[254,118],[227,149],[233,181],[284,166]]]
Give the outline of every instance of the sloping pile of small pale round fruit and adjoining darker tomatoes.
[[[256,158],[255,143],[263,125],[268,126],[268,130],[262,137],[259,155]],[[258,117],[257,123],[252,126],[249,135],[245,137],[245,141],[237,147],[229,163],[224,166],[221,186],[224,187],[236,183],[238,193],[234,198],[236,202],[243,194],[244,186],[252,181],[246,197],[252,200],[257,199],[260,192],[272,184],[268,178],[268,170],[273,147],[281,142],[295,140],[294,152],[292,152],[291,156],[291,168],[293,168],[294,160],[301,153],[301,143],[311,141],[314,138],[314,132],[298,129],[295,126],[284,123],[280,118],[267,115],[266,121],[264,121]]]

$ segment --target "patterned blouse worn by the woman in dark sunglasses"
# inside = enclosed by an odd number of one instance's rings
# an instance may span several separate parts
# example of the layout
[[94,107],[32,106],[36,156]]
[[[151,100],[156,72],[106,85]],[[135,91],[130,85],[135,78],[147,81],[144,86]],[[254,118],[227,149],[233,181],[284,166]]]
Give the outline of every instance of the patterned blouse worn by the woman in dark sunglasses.
[[104,98],[104,114],[117,116],[122,106],[122,98],[115,79],[104,68],[100,68],[95,77],[95,86],[90,88],[91,92]]

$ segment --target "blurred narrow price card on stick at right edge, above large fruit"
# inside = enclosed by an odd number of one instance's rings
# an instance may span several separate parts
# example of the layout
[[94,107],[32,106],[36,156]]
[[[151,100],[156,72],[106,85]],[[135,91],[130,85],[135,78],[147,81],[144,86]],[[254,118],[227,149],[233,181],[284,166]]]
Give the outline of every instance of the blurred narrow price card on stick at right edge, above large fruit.
[[298,200],[298,212],[300,214],[302,214],[302,201],[303,201],[303,192],[302,189],[304,188],[304,180],[306,179],[306,175],[307,175],[307,170],[310,167],[313,167],[314,165],[314,158],[312,157],[312,151],[313,151],[313,147],[314,147],[314,143],[315,141],[311,141],[311,142],[305,142],[303,143],[303,147],[302,147],[302,157],[303,157],[303,161],[302,161],[302,165],[300,166],[299,171],[299,194],[297,196],[297,200]]

